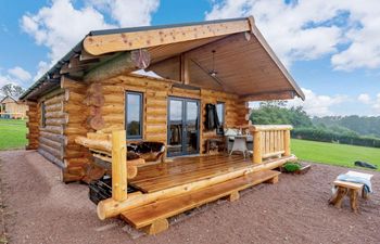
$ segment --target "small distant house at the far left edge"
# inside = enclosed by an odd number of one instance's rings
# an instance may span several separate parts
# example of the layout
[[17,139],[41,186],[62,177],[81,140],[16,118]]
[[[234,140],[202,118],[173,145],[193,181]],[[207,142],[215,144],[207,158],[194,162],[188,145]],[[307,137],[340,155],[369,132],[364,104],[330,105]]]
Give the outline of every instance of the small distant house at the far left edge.
[[0,118],[24,118],[27,105],[7,95],[0,101]]

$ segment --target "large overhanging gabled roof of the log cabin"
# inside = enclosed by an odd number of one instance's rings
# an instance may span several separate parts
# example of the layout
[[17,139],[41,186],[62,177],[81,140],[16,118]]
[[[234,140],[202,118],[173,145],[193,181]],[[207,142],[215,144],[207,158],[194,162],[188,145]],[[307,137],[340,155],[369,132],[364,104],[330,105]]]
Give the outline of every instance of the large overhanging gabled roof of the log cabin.
[[[248,100],[263,94],[266,99],[304,99],[253,17],[91,31],[21,99],[36,99],[59,87],[62,75],[80,80],[118,53],[141,49],[151,56],[147,69],[167,79],[181,80],[178,74],[185,56],[190,85],[228,90]],[[210,75],[214,65],[217,77]]]

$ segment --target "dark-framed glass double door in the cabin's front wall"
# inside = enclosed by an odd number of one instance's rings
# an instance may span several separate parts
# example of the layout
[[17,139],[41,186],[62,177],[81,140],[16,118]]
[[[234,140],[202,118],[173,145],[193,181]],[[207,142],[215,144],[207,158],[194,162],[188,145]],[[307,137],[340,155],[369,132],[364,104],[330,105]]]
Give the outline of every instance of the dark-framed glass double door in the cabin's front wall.
[[167,107],[167,155],[199,153],[199,101],[169,98]]

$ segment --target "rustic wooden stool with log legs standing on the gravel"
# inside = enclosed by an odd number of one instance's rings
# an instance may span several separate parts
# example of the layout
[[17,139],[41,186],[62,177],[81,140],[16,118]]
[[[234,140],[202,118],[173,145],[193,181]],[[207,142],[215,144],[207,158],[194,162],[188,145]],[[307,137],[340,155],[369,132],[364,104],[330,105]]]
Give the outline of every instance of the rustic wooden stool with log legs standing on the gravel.
[[356,214],[358,210],[357,196],[359,190],[362,190],[362,197],[367,198],[367,192],[364,190],[364,184],[335,180],[333,182],[334,187],[338,188],[337,193],[329,200],[329,204],[341,208],[342,201],[345,195],[350,196],[351,209]]

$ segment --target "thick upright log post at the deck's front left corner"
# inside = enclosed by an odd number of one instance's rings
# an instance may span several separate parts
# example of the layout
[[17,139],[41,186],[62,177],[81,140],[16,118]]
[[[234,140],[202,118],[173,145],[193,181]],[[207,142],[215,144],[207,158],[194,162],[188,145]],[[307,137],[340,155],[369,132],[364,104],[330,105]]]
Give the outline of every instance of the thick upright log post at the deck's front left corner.
[[112,198],[127,200],[126,131],[112,131]]

